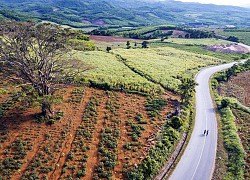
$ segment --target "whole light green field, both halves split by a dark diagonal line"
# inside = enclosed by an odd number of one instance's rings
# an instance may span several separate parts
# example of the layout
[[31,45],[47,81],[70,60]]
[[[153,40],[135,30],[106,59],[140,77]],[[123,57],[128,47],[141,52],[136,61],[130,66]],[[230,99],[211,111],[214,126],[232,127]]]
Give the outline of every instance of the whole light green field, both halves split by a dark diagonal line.
[[[93,69],[84,73],[85,79],[102,85],[106,83],[114,89],[124,88],[145,93],[162,92],[162,88],[158,84],[171,90],[177,90],[180,77],[191,77],[201,67],[220,62],[210,56],[168,47],[116,49],[112,53],[78,52],[75,55],[78,59],[93,66]],[[125,58],[127,66],[115,55]]]

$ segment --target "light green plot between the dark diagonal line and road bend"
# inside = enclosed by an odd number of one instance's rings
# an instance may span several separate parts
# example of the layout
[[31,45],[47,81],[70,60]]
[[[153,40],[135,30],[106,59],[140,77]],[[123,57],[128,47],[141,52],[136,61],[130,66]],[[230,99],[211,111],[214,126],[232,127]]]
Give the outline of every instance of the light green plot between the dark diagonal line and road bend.
[[168,89],[177,90],[180,77],[193,76],[201,67],[216,64],[218,59],[174,48],[116,49],[112,51],[125,63]]

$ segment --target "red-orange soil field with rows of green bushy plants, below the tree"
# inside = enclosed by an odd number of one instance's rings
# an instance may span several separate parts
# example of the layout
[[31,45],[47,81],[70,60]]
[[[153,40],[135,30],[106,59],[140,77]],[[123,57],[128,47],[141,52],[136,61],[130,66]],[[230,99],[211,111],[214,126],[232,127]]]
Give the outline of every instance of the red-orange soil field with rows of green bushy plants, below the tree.
[[63,100],[54,107],[63,117],[47,125],[34,117],[38,107],[16,112],[16,93],[0,96],[0,179],[123,179],[174,110],[167,100],[151,118],[144,96],[71,86],[58,92]]

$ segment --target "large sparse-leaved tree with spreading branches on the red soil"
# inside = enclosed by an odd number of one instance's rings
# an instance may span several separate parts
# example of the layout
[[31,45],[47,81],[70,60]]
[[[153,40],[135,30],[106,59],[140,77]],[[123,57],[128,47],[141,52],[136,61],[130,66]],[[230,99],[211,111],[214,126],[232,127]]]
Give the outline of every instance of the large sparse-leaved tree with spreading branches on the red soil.
[[88,69],[80,61],[70,59],[67,43],[75,33],[52,24],[12,21],[0,23],[0,35],[1,71],[32,86],[42,99],[42,114],[53,117],[51,96],[77,73]]

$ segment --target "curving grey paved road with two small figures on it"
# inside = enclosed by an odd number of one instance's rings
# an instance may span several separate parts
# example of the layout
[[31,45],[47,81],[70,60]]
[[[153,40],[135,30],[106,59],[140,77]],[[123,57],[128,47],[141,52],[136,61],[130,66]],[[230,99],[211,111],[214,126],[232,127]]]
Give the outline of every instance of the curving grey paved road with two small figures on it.
[[[217,149],[217,122],[208,82],[212,74],[227,69],[233,64],[206,68],[196,76],[199,85],[196,87],[194,130],[170,180],[209,180],[212,178]],[[205,129],[209,130],[208,136],[203,135]]]

